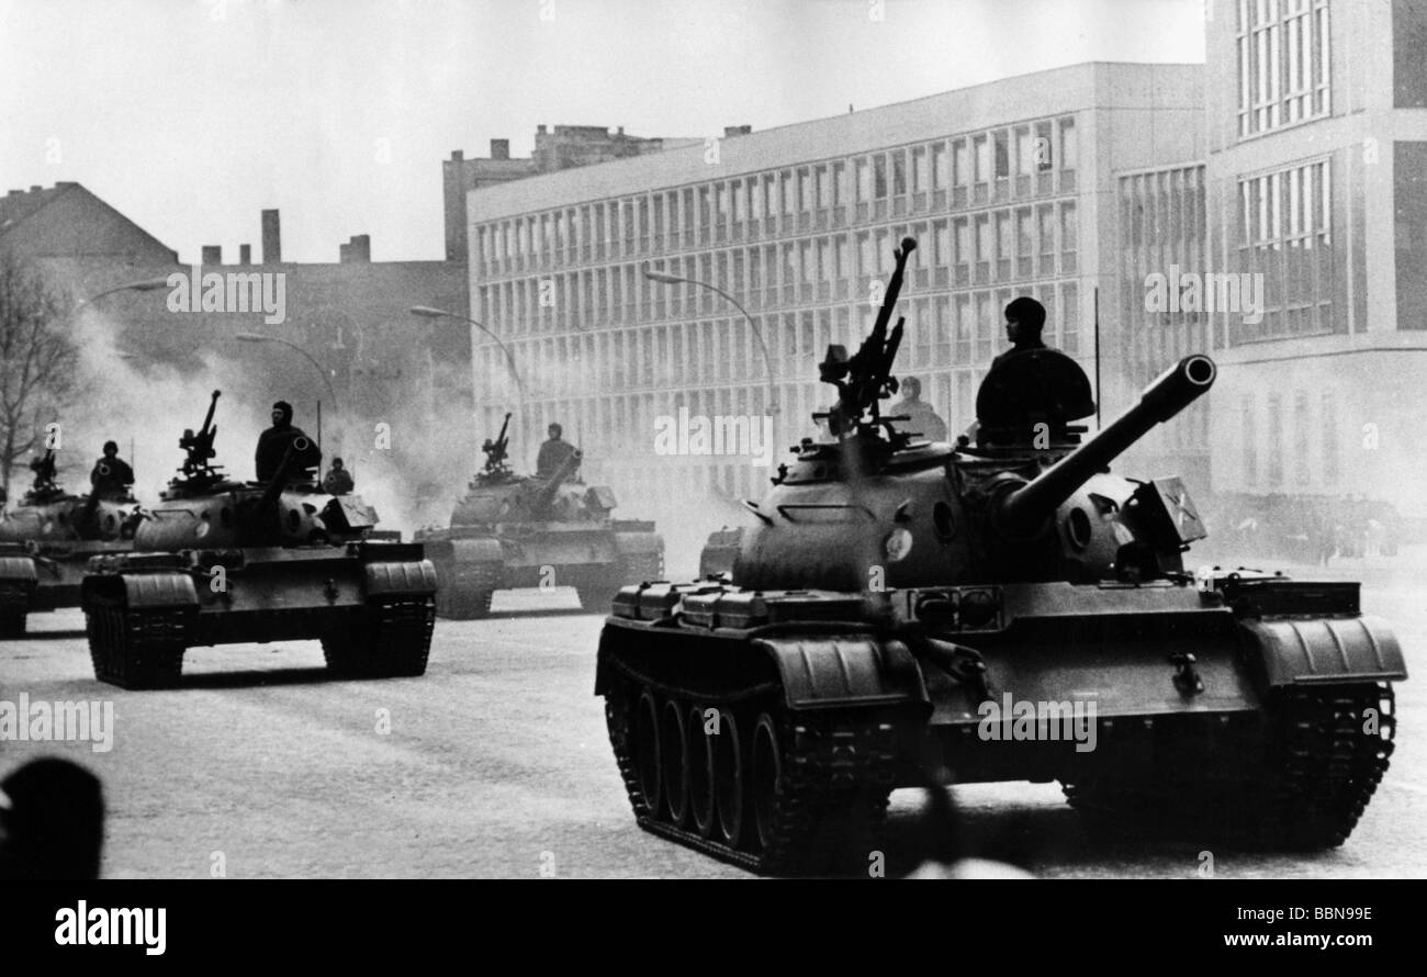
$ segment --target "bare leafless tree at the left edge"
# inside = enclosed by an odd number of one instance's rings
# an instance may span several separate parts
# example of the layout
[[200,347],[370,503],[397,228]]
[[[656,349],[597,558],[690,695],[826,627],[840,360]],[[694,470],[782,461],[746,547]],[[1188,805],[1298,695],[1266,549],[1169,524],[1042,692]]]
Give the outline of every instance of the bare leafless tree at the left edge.
[[37,270],[0,248],[0,491],[39,448],[74,392],[78,349],[60,295]]

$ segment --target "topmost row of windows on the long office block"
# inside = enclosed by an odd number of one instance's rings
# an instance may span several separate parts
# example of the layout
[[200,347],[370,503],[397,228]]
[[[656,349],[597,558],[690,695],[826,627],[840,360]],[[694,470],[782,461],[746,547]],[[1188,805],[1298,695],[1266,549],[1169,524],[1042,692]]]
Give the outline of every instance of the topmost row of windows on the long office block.
[[[1073,193],[1075,117],[525,214],[472,228],[482,274],[608,261]],[[1059,181],[1050,174],[1057,173]],[[852,208],[850,211],[848,208]]]

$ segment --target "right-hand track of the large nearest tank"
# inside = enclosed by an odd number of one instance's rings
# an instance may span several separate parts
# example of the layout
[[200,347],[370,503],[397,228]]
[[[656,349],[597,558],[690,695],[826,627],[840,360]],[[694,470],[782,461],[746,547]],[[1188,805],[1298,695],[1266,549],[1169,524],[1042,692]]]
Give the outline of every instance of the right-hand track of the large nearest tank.
[[[1256,849],[1314,850],[1347,840],[1387,772],[1397,729],[1390,685],[1290,686],[1269,702],[1271,745],[1253,780],[1067,783],[1073,807],[1136,827],[1204,830]],[[1376,709],[1378,732],[1364,733]]]

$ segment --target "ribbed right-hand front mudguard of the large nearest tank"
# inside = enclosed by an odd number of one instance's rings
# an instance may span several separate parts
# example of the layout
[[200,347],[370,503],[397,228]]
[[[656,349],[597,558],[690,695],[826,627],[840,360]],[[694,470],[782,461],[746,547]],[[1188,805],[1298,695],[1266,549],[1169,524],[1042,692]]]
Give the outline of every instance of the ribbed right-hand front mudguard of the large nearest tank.
[[1270,689],[1407,677],[1401,645],[1380,618],[1269,618],[1240,625],[1256,677]]

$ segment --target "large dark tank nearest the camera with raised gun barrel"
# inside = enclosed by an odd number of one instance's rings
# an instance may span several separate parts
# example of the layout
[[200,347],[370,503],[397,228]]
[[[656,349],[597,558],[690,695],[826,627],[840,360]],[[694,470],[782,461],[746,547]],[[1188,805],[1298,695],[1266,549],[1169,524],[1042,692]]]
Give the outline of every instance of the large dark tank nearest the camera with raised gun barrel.
[[638,823],[755,871],[866,871],[895,787],[1059,780],[1112,824],[1343,843],[1393,749],[1393,632],[1353,582],[1186,569],[1183,484],[1107,469],[1213,361],[1082,438],[1079,365],[1010,354],[975,431],[915,438],[878,411],[912,248],[858,354],[821,364],[836,442],[779,468],[732,579],[615,598],[595,693]]

